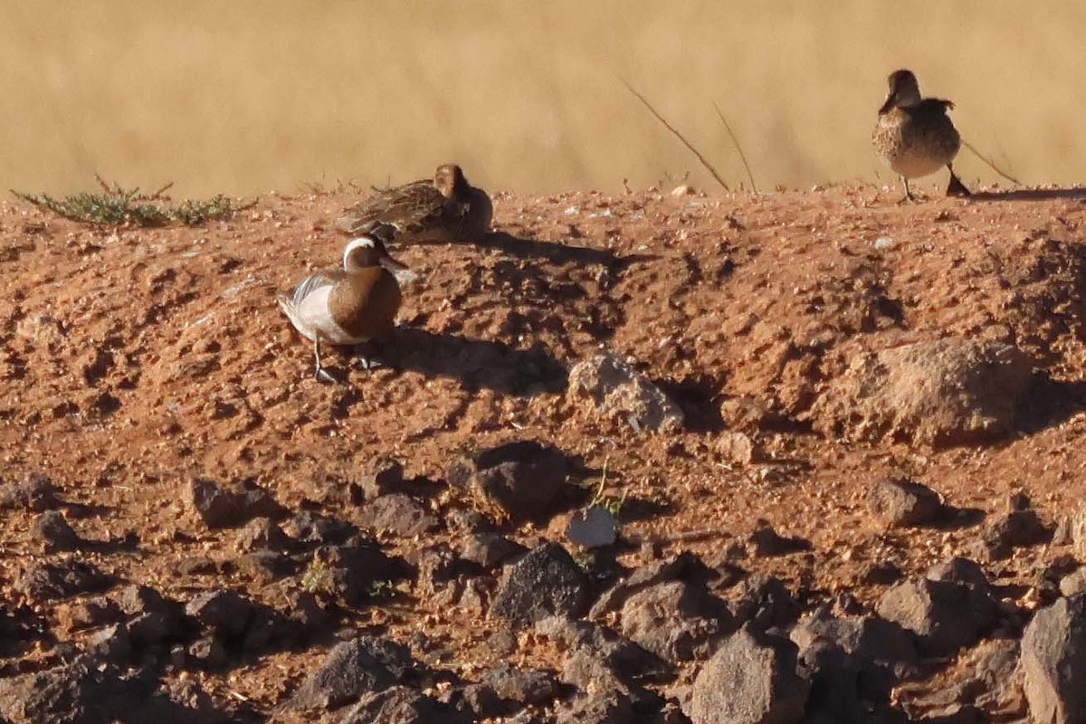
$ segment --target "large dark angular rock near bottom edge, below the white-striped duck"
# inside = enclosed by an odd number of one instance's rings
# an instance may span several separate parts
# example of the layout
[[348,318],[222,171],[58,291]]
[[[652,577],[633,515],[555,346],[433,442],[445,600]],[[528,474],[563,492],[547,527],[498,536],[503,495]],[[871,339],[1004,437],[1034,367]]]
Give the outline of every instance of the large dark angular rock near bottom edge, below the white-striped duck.
[[337,644],[299,687],[294,709],[332,710],[401,682],[415,666],[406,647],[374,636]]

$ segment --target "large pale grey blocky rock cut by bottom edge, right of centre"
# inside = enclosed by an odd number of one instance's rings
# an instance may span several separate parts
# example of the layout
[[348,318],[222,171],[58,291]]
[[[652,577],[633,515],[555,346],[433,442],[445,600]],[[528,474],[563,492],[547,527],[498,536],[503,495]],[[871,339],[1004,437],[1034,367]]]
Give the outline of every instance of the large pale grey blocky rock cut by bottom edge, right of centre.
[[698,672],[686,714],[698,724],[798,724],[810,685],[796,663],[791,640],[743,628]]

